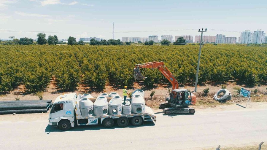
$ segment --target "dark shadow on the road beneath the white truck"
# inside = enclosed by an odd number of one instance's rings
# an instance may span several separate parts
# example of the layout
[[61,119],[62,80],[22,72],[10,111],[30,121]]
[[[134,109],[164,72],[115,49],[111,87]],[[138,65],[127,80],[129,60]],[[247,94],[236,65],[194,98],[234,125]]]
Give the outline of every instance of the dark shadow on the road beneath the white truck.
[[[130,125],[131,122],[129,122],[129,125],[124,128],[137,128],[137,127],[146,127],[146,126],[154,126],[155,123],[152,121],[145,122],[144,125],[141,126],[133,126]],[[51,125],[47,125],[45,128],[45,133],[49,134],[50,132],[69,132],[69,131],[85,131],[85,130],[110,130],[110,129],[115,129],[115,128],[123,128],[123,127],[118,127],[117,122],[114,122],[114,126],[111,128],[105,128],[102,125],[82,125],[82,126],[77,126],[71,128],[68,131],[62,131],[58,129],[57,127],[52,127]]]

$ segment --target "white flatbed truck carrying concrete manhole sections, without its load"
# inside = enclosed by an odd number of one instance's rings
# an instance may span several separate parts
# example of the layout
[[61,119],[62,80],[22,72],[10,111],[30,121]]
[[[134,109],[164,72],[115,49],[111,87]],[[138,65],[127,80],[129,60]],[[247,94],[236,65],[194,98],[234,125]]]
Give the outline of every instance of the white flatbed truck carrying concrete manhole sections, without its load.
[[[152,109],[145,106],[145,112],[142,114],[120,114],[120,115],[106,115],[106,116],[89,116],[82,117],[79,108],[80,94],[76,93],[63,94],[58,96],[51,108],[49,114],[49,125],[58,127],[61,130],[69,130],[74,125],[98,125],[102,124],[104,127],[112,127],[114,121],[117,121],[119,127],[128,126],[129,119],[132,125],[139,126],[146,121],[156,121],[156,115]],[[90,99],[94,102],[95,99]],[[110,98],[107,99],[108,101]]]

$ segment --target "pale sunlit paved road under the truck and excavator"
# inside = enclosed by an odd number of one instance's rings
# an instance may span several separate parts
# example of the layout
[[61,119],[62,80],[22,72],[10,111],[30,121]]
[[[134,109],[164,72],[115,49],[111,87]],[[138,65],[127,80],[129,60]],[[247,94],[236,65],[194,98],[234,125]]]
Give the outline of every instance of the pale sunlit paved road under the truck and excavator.
[[0,122],[1,149],[201,149],[267,139],[267,109],[198,111],[165,116],[141,127],[100,125],[61,131],[36,122]]

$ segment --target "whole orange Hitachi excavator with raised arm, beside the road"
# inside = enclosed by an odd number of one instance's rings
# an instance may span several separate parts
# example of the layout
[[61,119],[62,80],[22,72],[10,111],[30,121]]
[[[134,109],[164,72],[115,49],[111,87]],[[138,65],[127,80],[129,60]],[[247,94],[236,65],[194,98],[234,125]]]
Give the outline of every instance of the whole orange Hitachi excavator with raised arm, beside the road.
[[196,103],[196,95],[186,89],[178,89],[179,84],[169,69],[164,66],[162,61],[153,61],[150,63],[136,64],[134,68],[134,79],[143,80],[145,77],[141,74],[142,68],[157,68],[171,82],[172,91],[167,97],[165,103],[160,103],[160,108],[164,113],[170,114],[195,114],[195,109],[188,107]]

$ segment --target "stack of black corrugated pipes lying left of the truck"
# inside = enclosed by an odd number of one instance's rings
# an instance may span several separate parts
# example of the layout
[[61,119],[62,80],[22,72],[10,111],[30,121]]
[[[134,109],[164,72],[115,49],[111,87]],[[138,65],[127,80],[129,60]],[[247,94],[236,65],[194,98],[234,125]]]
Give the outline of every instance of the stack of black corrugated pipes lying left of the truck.
[[52,105],[52,100],[0,101],[0,114],[45,113]]

